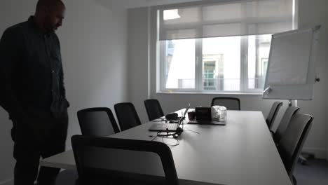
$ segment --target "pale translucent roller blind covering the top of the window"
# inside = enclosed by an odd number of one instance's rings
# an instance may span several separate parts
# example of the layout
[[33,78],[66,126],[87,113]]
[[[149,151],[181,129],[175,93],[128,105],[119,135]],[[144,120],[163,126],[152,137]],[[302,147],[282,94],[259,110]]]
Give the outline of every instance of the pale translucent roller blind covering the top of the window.
[[293,28],[293,0],[225,1],[158,9],[159,39],[275,34]]

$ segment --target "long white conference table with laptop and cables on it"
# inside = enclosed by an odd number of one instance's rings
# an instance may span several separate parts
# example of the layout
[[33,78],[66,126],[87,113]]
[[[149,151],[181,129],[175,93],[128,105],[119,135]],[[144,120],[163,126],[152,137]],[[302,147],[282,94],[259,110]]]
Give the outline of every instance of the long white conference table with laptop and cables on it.
[[[152,140],[152,123],[110,137]],[[179,145],[170,149],[180,184],[292,185],[261,111],[227,111],[224,126],[184,124],[178,139]],[[41,165],[76,169],[72,150],[43,159]]]

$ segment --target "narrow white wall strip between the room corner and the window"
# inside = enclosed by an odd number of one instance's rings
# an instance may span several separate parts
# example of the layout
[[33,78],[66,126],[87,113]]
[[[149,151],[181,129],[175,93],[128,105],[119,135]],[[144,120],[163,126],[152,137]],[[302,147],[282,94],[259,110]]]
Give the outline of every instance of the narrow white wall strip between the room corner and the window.
[[128,92],[129,102],[137,109],[142,123],[148,121],[144,100],[149,97],[149,39],[148,8],[135,8],[128,12]]

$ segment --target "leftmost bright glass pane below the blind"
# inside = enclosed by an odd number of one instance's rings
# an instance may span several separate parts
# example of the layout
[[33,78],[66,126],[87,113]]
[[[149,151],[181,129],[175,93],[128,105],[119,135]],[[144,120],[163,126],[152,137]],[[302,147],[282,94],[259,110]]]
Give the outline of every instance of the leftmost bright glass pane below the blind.
[[195,39],[165,41],[165,88],[195,88]]

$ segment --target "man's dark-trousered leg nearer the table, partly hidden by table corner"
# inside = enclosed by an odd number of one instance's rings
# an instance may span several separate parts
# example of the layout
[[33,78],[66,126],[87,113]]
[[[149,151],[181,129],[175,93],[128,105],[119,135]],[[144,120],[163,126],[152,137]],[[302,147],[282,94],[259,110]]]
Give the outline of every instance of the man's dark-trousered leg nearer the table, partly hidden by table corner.
[[[42,158],[54,156],[65,151],[67,137],[68,118],[55,119],[54,128],[50,131],[50,137],[46,140],[46,145],[41,152]],[[60,169],[54,167],[40,167],[38,183],[39,185],[53,185]]]

